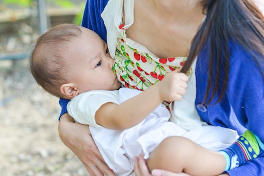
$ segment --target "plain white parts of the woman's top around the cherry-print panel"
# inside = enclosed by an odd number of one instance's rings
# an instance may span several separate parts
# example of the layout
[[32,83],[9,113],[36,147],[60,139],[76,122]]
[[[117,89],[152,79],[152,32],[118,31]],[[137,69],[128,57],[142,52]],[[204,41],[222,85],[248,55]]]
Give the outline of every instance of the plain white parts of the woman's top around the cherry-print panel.
[[[101,17],[106,25],[108,48],[112,58],[115,58],[117,38],[121,38],[122,30],[119,29],[119,25],[122,23],[123,2],[125,11],[124,28],[129,28],[134,22],[134,0],[109,0],[103,13],[101,14]],[[156,57],[145,46],[129,38],[127,38],[127,42],[131,47],[149,53],[149,55],[153,58]],[[201,122],[195,107],[195,66],[196,61],[192,65],[193,73],[189,77],[188,88],[183,99],[181,101],[174,102],[174,106],[170,107],[172,111],[172,117],[170,120],[186,130],[194,130],[196,128],[200,128],[202,124],[205,124],[205,122]]]

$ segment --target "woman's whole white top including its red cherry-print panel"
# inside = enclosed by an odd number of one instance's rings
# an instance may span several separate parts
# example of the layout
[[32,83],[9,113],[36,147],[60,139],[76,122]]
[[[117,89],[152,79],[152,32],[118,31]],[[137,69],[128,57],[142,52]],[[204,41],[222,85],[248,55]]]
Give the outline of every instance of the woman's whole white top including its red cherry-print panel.
[[[122,24],[123,3],[126,24]],[[109,0],[101,16],[107,29],[110,55],[114,58],[113,71],[118,80],[127,88],[145,90],[161,81],[170,71],[183,66],[187,57],[158,58],[142,44],[127,38],[126,29],[133,24],[133,6],[134,0]],[[188,130],[202,124],[195,108],[195,66],[196,62],[189,71],[183,99],[174,102],[174,106],[170,104],[171,121]],[[164,104],[169,106],[169,102]]]

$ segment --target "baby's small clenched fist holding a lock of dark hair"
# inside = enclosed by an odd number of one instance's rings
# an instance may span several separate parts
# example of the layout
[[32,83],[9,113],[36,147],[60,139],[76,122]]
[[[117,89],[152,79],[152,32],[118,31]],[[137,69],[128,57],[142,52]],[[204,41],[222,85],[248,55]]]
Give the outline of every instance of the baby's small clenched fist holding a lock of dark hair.
[[168,73],[158,83],[160,98],[164,101],[180,101],[186,93],[188,76],[178,71]]

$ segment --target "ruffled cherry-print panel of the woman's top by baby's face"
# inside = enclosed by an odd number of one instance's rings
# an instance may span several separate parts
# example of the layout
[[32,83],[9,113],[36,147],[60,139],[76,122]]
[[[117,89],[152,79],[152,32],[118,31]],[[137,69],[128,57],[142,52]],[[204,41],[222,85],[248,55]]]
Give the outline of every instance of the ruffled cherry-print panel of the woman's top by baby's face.
[[183,66],[186,57],[157,58],[154,54],[133,48],[126,37],[126,27],[119,25],[121,38],[117,38],[113,70],[127,88],[145,90],[164,76]]

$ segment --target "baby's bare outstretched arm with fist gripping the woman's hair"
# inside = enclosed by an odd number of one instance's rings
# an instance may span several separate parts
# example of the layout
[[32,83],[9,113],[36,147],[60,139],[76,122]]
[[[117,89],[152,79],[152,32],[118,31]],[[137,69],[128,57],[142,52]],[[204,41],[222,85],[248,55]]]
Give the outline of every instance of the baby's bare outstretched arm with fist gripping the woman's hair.
[[163,101],[179,101],[185,94],[188,77],[173,71],[140,94],[121,103],[106,103],[95,114],[98,125],[113,130],[123,130],[139,124]]

